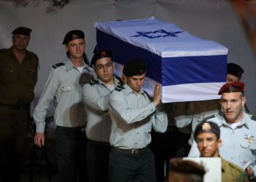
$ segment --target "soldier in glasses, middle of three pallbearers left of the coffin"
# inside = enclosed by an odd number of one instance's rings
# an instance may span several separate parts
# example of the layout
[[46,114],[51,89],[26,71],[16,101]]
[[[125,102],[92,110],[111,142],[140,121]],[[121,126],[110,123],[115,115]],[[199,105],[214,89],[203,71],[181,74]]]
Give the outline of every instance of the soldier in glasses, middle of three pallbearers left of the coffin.
[[95,52],[91,60],[97,79],[83,86],[83,103],[86,106],[87,167],[89,181],[108,181],[111,119],[108,114],[110,92],[121,87],[121,81],[113,76],[115,69],[109,50]]

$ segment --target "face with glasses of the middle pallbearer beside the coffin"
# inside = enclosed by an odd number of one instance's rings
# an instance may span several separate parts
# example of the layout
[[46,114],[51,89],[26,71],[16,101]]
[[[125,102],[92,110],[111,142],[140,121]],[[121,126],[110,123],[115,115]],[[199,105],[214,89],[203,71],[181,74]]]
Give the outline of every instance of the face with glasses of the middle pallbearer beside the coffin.
[[97,76],[105,84],[110,84],[110,82],[113,82],[114,69],[115,66],[111,58],[101,58],[97,60],[94,66],[94,71],[96,72]]

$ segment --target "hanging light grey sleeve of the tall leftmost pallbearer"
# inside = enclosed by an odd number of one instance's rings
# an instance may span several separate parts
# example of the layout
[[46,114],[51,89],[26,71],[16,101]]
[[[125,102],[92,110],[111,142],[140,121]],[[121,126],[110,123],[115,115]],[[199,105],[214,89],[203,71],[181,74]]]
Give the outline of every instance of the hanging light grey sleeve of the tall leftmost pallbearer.
[[40,95],[37,106],[34,108],[34,122],[37,124],[37,132],[45,132],[45,116],[59,86],[56,69],[51,68],[45,85]]

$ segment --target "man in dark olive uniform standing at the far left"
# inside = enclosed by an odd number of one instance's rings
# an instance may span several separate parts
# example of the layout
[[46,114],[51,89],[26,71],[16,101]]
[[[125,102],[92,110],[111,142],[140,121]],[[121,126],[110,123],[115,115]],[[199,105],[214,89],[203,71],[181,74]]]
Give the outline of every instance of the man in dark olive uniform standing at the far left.
[[12,47],[0,50],[0,181],[20,181],[29,131],[38,58],[26,50],[31,29],[12,31]]

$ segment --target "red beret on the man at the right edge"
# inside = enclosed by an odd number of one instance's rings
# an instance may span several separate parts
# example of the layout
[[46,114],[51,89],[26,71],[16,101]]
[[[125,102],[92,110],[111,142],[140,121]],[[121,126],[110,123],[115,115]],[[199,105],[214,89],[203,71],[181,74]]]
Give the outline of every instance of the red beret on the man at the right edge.
[[244,92],[244,83],[243,82],[228,82],[220,88],[218,94],[222,95],[223,92]]

